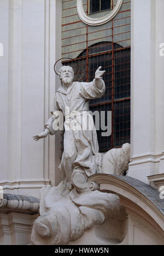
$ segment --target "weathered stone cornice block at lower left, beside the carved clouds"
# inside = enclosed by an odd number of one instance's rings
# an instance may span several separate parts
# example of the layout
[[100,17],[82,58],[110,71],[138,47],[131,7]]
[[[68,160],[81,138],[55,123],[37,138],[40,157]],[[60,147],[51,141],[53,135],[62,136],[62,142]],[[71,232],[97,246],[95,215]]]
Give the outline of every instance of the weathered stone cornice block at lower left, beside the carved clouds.
[[38,210],[39,200],[37,198],[1,194],[0,244],[30,244],[33,222],[39,216]]

